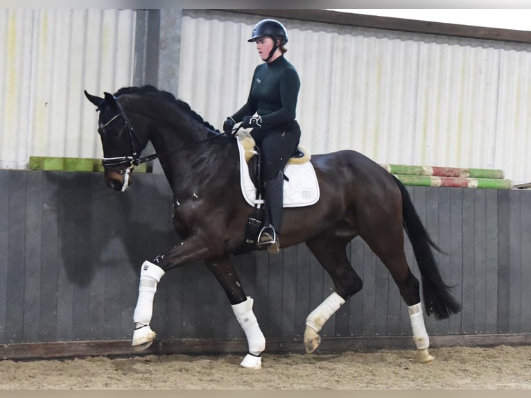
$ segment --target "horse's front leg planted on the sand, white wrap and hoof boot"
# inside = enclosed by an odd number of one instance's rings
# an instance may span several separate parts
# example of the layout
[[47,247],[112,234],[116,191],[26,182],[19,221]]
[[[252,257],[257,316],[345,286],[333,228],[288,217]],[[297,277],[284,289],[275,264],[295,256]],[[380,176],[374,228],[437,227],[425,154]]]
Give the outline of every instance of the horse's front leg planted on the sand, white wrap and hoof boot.
[[234,311],[234,315],[236,315],[236,319],[247,338],[248,354],[243,358],[240,365],[251,369],[260,369],[262,367],[261,354],[265,349],[265,337],[252,311],[254,300],[245,296],[236,270],[229,259],[223,257],[216,261],[205,261],[205,263],[229,297],[232,311]]

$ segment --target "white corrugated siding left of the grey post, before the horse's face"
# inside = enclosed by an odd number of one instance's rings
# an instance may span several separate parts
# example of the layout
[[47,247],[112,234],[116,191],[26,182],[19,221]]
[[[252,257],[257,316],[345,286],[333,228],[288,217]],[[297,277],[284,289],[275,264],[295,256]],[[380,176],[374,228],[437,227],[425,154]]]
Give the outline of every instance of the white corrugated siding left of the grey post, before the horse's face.
[[133,10],[0,10],[0,167],[101,157],[83,89],[132,84]]

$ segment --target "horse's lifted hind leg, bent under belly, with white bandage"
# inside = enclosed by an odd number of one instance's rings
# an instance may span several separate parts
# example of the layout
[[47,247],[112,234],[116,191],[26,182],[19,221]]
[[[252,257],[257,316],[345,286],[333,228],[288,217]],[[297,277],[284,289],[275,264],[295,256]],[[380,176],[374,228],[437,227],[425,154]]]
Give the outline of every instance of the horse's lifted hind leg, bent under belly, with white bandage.
[[304,347],[311,354],[319,347],[321,338],[319,331],[331,316],[345,304],[349,298],[361,290],[363,282],[347,259],[348,241],[335,237],[320,237],[306,242],[313,255],[332,278],[334,292],[329,295],[306,318],[304,331]]

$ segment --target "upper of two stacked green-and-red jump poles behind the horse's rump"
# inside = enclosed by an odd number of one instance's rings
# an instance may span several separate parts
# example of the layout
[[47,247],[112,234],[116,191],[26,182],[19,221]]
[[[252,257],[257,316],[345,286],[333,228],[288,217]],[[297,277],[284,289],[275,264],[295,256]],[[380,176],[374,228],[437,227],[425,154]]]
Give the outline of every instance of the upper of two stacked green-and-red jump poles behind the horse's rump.
[[392,174],[403,175],[433,175],[437,177],[494,179],[503,179],[505,177],[503,170],[491,170],[489,168],[406,166],[403,164],[381,164],[380,166]]

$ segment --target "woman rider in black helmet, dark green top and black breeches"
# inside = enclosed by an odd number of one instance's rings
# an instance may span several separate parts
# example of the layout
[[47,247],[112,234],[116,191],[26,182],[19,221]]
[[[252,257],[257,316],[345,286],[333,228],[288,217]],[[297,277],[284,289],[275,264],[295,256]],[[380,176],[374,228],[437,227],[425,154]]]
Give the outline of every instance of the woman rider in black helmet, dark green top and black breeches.
[[[300,80],[295,67],[286,58],[286,28],[275,19],[259,21],[247,42],[256,42],[261,60],[254,69],[247,103],[227,117],[223,131],[234,124],[252,128],[251,135],[261,148],[261,179],[265,193],[268,222],[262,228],[259,247],[279,247],[282,220],[284,168],[299,145],[301,130],[295,120]],[[256,116],[255,116],[256,114]]]

